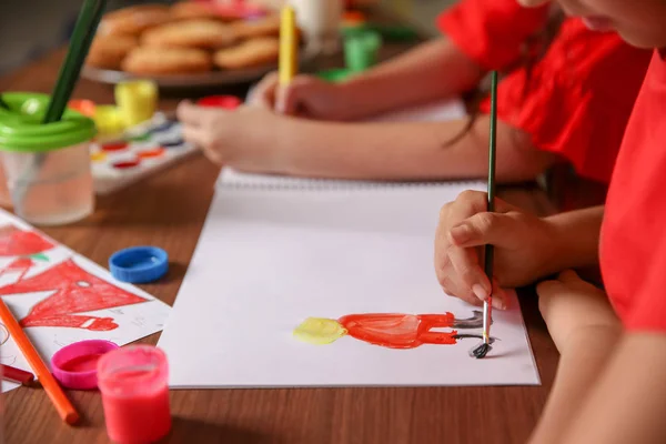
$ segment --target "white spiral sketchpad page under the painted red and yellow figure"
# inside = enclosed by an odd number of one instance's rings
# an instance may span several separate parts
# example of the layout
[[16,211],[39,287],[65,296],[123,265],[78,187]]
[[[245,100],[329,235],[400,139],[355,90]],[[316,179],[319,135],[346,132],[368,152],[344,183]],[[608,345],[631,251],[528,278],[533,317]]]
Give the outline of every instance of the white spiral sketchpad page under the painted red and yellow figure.
[[159,342],[171,386],[538,384],[516,303],[495,312],[498,341],[485,360],[467,355],[476,339],[393,350],[350,335],[326,345],[292,335],[309,316],[472,316],[472,306],[443,294],[433,270],[438,210],[468,188],[485,185],[221,186]]

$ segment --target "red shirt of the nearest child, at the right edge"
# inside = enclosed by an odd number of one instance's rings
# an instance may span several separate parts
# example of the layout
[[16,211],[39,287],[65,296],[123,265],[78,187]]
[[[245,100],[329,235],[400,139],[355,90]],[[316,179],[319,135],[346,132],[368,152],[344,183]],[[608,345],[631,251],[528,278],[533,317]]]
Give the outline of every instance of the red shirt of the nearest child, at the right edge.
[[602,273],[630,331],[666,333],[666,61],[655,52],[613,173]]

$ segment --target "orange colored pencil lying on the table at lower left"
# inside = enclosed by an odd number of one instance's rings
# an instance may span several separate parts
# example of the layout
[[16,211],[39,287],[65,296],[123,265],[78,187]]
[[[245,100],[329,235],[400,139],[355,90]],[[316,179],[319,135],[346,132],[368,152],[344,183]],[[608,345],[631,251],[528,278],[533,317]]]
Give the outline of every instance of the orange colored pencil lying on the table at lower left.
[[39,353],[28,339],[23,329],[19,325],[17,320],[13,317],[4,301],[0,299],[0,320],[4,323],[4,326],[9,331],[11,337],[13,337],[14,342],[23,353],[26,361],[30,364],[30,367],[39,379],[42,387],[47,391],[47,394],[51,398],[53,406],[58,411],[60,417],[67,422],[68,424],[75,424],[79,421],[79,414],[77,413],[74,406],[67,398],[67,395],[58,385],[58,382],[47,367],[47,364],[39,356]]

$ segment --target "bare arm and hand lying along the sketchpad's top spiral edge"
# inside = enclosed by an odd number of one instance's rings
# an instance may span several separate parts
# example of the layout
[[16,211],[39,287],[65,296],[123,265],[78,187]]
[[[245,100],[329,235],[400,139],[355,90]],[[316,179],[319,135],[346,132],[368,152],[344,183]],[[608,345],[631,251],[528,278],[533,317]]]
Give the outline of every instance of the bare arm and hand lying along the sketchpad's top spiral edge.
[[[336,123],[286,118],[246,107],[231,112],[179,107],[185,139],[240,170],[297,176],[430,180],[487,172],[487,117],[466,131],[450,122]],[[558,160],[526,133],[500,123],[497,180],[535,179]]]

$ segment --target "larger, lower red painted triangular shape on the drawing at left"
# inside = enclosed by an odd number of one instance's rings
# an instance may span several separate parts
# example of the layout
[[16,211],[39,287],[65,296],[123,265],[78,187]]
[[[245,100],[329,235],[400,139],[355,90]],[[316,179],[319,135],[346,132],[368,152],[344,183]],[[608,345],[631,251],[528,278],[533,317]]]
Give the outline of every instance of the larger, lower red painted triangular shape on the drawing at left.
[[13,284],[0,287],[0,296],[47,291],[52,291],[53,294],[30,310],[28,315],[20,321],[22,326],[62,326],[91,331],[114,330],[118,324],[113,322],[112,317],[78,313],[148,301],[90,274],[71,259],[43,273],[28,279],[19,279]]

